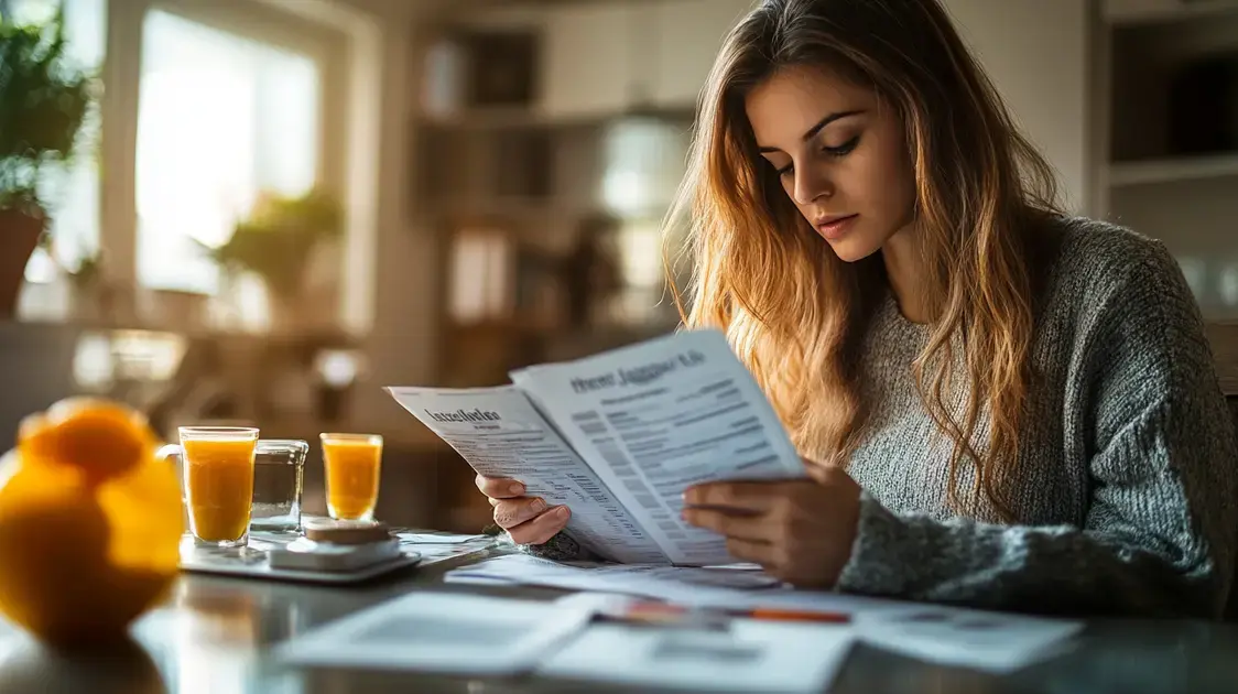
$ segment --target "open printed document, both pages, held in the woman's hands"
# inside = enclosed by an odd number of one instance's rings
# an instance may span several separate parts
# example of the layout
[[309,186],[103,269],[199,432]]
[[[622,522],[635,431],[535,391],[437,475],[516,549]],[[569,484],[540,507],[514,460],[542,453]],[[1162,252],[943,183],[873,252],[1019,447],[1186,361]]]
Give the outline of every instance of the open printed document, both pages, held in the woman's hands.
[[702,482],[803,477],[765,395],[716,330],[511,374],[483,389],[389,388],[474,470],[572,511],[568,534],[610,560],[734,561],[685,523]]

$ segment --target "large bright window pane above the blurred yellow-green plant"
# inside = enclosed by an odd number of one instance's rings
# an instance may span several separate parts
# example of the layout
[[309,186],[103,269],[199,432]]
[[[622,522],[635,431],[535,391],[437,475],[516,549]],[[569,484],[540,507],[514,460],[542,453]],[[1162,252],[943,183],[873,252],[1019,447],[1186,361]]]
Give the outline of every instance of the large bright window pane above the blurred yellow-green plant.
[[207,250],[264,192],[301,196],[319,157],[321,69],[308,56],[151,11],[137,120],[137,280],[219,291]]

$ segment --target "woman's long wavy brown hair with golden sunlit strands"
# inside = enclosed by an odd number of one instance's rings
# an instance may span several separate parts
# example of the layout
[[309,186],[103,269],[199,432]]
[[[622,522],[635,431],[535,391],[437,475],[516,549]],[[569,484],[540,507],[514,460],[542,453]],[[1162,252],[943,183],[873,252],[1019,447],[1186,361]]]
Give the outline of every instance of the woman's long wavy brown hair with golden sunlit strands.
[[[933,316],[916,384],[953,441],[951,502],[962,503],[958,472],[969,460],[972,501],[982,492],[1010,518],[1004,481],[1018,467],[1032,378],[1029,255],[1039,222],[1057,213],[1056,190],[938,0],[765,0],[730,32],[669,218],[690,222],[690,310],[671,280],[680,314],[688,327],[727,332],[805,456],[846,462],[867,420],[859,351],[888,290],[879,255],[847,264],[826,250],[761,165],[744,98],[787,66],[828,66],[872,87],[904,124]],[[954,373],[958,362],[966,373]],[[947,406],[959,377],[961,414]],[[978,452],[985,411],[988,447]]]

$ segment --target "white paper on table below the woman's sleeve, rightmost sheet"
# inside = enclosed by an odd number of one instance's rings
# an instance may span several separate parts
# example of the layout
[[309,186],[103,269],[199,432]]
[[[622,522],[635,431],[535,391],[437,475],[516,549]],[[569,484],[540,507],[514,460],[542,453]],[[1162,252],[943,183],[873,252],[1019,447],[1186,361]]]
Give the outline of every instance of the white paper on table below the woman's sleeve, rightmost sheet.
[[865,643],[947,665],[993,673],[1024,668],[1056,653],[1082,622],[932,605],[862,615]]

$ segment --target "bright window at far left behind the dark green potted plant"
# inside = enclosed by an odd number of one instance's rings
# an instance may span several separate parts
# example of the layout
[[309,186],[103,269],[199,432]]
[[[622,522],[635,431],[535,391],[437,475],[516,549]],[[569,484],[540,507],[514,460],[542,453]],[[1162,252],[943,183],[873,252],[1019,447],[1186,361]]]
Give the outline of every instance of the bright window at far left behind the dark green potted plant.
[[[20,22],[41,24],[64,5],[68,58],[76,67],[98,72],[106,43],[106,0],[0,0],[0,11]],[[76,269],[99,247],[99,104],[87,112],[78,133],[76,155],[63,166],[43,169],[38,195],[51,218],[51,254],[35,252],[26,265],[26,281],[50,283],[57,263]]]

